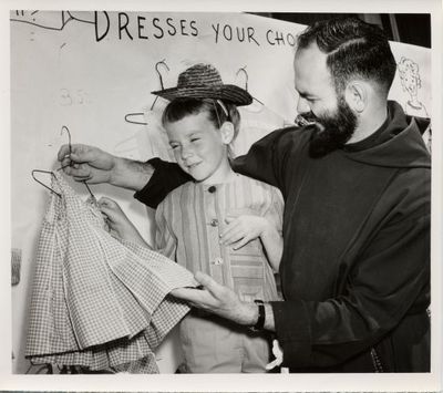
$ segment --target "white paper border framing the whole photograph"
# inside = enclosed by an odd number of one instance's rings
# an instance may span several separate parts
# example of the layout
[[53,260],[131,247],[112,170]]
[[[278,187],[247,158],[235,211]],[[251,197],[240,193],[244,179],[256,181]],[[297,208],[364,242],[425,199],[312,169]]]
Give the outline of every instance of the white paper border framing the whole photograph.
[[[432,28],[432,371],[423,374],[254,374],[254,375],[14,375],[11,373],[10,287],[10,23],[12,9],[431,13]],[[0,391],[120,391],[120,392],[324,392],[442,390],[442,2],[440,0],[0,0],[1,89],[0,132],[3,192],[0,204]],[[29,59],[32,61],[32,59]]]

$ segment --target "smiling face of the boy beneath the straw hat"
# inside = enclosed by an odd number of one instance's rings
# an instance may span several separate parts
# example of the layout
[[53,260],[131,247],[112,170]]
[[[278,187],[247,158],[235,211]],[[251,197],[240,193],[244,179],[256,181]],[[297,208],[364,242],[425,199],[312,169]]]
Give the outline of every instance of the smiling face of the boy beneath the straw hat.
[[223,183],[229,170],[227,143],[219,130],[202,112],[165,124],[165,130],[181,168],[197,182]]

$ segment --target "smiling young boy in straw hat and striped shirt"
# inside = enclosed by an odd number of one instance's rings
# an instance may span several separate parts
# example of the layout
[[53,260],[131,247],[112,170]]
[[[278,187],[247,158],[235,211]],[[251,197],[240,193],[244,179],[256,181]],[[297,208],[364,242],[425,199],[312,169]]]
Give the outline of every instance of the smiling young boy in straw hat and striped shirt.
[[[274,271],[281,252],[284,201],[277,188],[236,174],[230,147],[239,128],[238,105],[251,102],[240,87],[223,84],[216,69],[197,64],[176,87],[155,92],[168,100],[163,125],[188,182],[156,210],[156,250],[190,271],[203,271],[243,300],[277,300]],[[113,200],[101,199],[120,236],[144,242]],[[193,309],[181,323],[183,372],[265,372],[269,338]]]

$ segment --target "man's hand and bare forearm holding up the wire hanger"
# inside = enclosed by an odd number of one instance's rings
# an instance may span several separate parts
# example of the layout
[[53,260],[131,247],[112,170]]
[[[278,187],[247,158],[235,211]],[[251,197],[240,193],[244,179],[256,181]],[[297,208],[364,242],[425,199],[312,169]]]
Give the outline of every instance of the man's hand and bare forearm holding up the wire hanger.
[[150,164],[116,157],[97,147],[74,144],[60,147],[58,159],[66,175],[78,182],[109,183],[132,190],[142,189],[154,169]]

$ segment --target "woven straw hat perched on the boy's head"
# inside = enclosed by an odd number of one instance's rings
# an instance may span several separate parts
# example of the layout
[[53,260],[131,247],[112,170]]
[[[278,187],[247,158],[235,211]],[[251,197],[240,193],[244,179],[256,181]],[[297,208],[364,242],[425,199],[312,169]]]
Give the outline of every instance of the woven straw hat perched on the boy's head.
[[210,64],[195,64],[178,75],[177,85],[157,90],[152,94],[166,100],[177,97],[224,100],[240,105],[249,105],[251,95],[234,84],[224,84],[216,68]]

